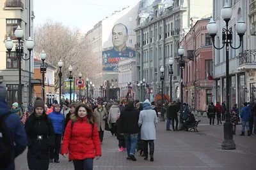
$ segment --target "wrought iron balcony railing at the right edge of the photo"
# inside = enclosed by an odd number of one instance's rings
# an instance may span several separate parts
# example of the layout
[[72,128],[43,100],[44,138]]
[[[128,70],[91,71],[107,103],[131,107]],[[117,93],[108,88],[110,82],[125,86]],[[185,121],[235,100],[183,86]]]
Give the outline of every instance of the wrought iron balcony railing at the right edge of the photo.
[[243,50],[239,53],[239,66],[247,63],[256,64],[256,50]]

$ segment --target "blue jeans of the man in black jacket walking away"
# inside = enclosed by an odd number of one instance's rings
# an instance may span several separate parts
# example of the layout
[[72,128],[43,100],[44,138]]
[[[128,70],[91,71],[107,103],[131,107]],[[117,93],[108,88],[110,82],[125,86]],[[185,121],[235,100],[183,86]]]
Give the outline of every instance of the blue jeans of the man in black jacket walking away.
[[135,155],[138,143],[138,134],[124,134],[127,155]]

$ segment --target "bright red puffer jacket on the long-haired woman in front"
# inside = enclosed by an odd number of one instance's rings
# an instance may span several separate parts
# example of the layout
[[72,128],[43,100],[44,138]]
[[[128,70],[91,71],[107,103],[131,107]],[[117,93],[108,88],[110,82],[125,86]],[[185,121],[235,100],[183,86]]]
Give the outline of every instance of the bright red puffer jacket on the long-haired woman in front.
[[[71,130],[72,120],[74,125]],[[71,120],[67,124],[61,147],[61,154],[68,152],[69,160],[83,160],[101,156],[97,124],[94,124],[92,134],[92,124],[87,122],[87,117],[82,120],[72,115]]]

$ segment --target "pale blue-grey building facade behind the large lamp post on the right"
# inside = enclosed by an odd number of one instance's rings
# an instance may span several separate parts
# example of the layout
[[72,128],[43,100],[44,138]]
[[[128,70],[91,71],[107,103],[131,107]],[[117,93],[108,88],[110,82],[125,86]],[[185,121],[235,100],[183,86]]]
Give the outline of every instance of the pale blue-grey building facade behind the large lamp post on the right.
[[[228,3],[232,8],[232,18],[229,22],[229,27],[232,29],[232,46],[238,47],[239,36],[236,33],[236,23],[242,17],[248,25],[247,30],[243,36],[242,45],[237,50],[230,48],[229,50],[229,74],[230,87],[226,87],[225,78],[225,48],[222,50],[214,50],[214,101],[223,102],[226,101],[226,89],[229,88],[230,92],[230,108],[232,104],[237,103],[239,109],[243,107],[245,101],[251,101],[255,98],[256,90],[254,85],[256,78],[255,74],[255,1],[234,1],[234,0],[222,0],[214,1],[213,18],[218,24],[218,33],[215,38],[215,45],[217,47],[222,46],[222,29],[225,27],[225,22],[221,17],[221,9],[224,4]],[[252,29],[251,29],[252,28]],[[254,83],[254,84],[253,84]]]

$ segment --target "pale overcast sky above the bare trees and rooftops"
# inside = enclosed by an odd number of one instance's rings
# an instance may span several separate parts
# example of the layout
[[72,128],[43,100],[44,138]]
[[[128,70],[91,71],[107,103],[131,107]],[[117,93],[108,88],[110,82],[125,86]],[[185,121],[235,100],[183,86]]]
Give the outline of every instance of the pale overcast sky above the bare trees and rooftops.
[[86,33],[93,25],[115,11],[132,6],[140,0],[34,0],[35,26],[47,18]]

